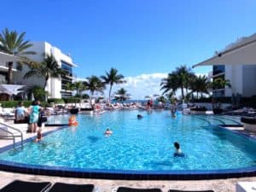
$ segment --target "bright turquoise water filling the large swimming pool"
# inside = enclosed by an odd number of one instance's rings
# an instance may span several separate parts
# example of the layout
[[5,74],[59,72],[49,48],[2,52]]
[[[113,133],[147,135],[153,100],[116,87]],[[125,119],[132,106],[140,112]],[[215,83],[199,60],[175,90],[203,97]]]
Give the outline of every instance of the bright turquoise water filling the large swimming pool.
[[[137,119],[137,113],[143,119]],[[77,128],[65,128],[0,154],[0,160],[83,169],[171,171],[219,170],[256,166],[256,142],[214,124],[236,124],[230,117],[187,116],[170,112],[115,111],[79,114]],[[49,123],[67,123],[54,116]],[[113,135],[103,136],[110,128]],[[174,157],[178,142],[185,157]]]

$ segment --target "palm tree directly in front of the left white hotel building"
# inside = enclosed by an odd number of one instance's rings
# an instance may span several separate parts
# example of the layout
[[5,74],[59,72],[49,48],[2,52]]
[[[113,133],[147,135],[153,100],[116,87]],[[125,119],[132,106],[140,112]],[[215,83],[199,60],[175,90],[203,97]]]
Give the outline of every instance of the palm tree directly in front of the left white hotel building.
[[66,72],[55,61],[55,57],[53,55],[46,55],[43,62],[30,66],[30,71],[24,75],[24,79],[31,78],[32,76],[44,77],[45,90],[49,78],[60,78],[61,75],[65,74]]

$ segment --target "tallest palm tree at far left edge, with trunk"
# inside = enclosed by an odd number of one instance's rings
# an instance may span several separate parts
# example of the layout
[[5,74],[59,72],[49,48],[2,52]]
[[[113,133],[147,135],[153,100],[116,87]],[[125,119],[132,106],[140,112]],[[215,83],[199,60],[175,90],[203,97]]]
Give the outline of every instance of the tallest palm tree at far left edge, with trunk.
[[[35,55],[36,52],[27,51],[28,48],[32,47],[32,44],[24,40],[25,35],[26,32],[19,34],[16,31],[9,31],[8,28],[5,28],[3,32],[0,33],[0,49],[10,55],[17,55],[22,58],[26,58],[26,55]],[[13,67],[14,62],[8,62],[8,84],[11,84],[13,81]]]

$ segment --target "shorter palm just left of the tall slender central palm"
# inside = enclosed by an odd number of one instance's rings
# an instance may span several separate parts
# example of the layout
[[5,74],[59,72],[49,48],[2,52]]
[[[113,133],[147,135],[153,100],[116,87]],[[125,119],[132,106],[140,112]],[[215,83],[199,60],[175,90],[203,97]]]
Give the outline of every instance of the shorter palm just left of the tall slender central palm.
[[90,91],[90,105],[91,97],[94,95],[94,93],[96,91],[103,93],[103,90],[105,89],[105,84],[102,82],[101,79],[99,79],[95,75],[92,75],[89,78],[87,78],[87,81],[84,81],[84,86],[86,87],[86,90]]

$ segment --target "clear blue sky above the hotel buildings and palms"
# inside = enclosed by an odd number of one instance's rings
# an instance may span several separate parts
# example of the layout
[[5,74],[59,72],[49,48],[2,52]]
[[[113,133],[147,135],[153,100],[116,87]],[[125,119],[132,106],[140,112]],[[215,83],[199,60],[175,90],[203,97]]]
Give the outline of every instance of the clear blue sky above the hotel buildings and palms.
[[169,73],[256,32],[253,0],[23,0],[1,7],[0,30],[25,31],[71,54],[80,78],[110,67],[125,77]]

